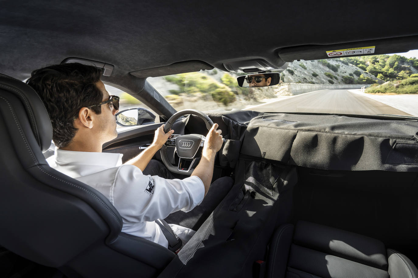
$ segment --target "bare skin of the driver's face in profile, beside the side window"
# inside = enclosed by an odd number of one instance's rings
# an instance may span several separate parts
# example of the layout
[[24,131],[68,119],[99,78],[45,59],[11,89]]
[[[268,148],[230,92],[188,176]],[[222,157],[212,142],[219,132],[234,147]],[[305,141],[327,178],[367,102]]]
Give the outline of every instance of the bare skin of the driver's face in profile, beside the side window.
[[[110,95],[107,92],[106,88],[104,88],[103,82],[97,82],[96,86],[103,93],[102,101],[109,100]],[[110,141],[117,137],[115,118],[115,114],[117,113],[117,111],[118,110],[113,108],[113,105],[111,105],[111,103],[106,103],[102,105],[102,113],[97,115],[98,122],[95,123],[95,125],[97,126],[97,134],[100,135],[100,138],[103,138],[104,142]]]

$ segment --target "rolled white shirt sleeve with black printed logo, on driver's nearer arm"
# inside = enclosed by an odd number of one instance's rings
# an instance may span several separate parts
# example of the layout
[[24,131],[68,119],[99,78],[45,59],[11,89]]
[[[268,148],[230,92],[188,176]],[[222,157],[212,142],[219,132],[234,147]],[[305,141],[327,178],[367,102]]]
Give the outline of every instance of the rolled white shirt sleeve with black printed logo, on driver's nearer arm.
[[200,205],[204,185],[197,176],[166,180],[143,175],[134,165],[122,165],[113,187],[114,205],[127,221],[154,221],[178,210],[185,212]]

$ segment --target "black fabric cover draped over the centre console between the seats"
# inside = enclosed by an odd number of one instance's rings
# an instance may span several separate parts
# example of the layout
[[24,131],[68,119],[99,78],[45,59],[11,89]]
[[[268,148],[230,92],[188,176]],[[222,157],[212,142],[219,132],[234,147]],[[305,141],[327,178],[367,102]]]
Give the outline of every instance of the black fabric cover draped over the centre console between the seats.
[[[251,172],[245,169],[254,167]],[[239,160],[235,184],[219,206],[178,253],[159,278],[165,277],[253,277],[253,264],[265,260],[273,230],[290,219],[291,192],[296,170],[272,163]],[[252,173],[274,173],[268,189],[252,184]],[[265,172],[265,173],[264,173]],[[246,186],[249,187],[246,190]],[[257,185],[258,186],[258,185]],[[198,273],[198,274],[197,274]]]

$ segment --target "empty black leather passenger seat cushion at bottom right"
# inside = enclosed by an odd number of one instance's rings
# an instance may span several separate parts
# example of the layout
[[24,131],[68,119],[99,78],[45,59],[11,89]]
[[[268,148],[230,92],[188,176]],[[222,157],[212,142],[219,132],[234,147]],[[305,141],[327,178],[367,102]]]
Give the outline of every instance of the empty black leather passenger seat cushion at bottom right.
[[[293,232],[294,230],[294,232]],[[415,278],[405,255],[374,238],[306,221],[281,225],[273,236],[266,277]]]

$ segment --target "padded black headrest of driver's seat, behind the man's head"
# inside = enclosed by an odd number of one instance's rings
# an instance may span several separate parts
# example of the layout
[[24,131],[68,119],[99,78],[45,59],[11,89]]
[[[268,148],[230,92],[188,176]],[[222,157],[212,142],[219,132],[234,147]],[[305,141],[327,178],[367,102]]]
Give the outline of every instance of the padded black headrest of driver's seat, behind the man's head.
[[31,123],[33,135],[42,152],[46,152],[51,145],[52,125],[39,95],[22,81],[0,74],[0,94],[2,91],[12,93],[21,100]]

